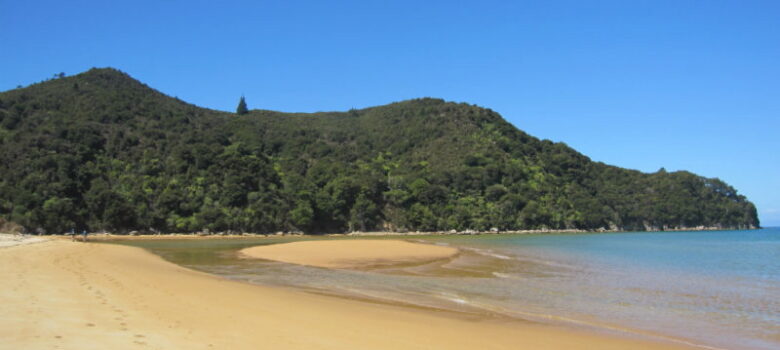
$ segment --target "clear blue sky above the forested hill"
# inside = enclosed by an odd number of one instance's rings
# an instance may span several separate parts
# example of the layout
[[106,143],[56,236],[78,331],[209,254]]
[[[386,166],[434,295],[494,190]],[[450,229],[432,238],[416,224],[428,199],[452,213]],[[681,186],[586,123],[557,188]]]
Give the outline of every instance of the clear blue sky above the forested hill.
[[0,42],[0,90],[111,66],[220,110],[474,103],[780,226],[778,1],[0,0]]

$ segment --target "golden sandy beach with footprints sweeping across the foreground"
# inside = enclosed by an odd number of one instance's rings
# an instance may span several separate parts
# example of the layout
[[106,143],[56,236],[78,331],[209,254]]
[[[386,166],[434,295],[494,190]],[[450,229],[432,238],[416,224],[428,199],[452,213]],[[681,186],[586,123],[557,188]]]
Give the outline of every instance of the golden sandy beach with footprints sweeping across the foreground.
[[0,249],[0,349],[682,349],[676,344],[250,285],[142,249]]

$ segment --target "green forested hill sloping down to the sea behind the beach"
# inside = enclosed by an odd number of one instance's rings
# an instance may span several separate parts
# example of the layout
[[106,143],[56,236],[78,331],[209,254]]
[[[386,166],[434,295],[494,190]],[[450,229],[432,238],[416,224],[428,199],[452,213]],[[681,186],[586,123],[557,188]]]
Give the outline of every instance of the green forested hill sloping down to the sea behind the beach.
[[0,149],[0,218],[33,232],[759,226],[718,179],[593,162],[429,98],[239,115],[92,69],[0,93]]

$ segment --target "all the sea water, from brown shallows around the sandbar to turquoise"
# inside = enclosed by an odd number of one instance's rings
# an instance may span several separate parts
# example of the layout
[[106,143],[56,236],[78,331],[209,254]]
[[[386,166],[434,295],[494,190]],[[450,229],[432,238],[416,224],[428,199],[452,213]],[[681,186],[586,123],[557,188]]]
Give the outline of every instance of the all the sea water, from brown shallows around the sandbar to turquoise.
[[583,327],[703,349],[780,349],[780,228],[390,237],[454,246],[461,253],[446,261],[357,271],[237,254],[249,246],[301,239],[321,238],[123,243],[192,269],[260,285]]

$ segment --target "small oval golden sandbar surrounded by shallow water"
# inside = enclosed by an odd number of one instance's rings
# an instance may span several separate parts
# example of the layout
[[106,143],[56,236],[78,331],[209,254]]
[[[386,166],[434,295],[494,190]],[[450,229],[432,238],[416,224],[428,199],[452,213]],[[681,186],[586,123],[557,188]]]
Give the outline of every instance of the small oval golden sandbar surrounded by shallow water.
[[451,258],[453,247],[399,240],[320,240],[245,248],[246,257],[334,269],[419,264]]

